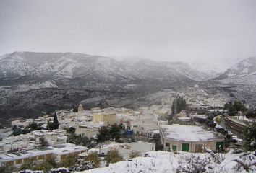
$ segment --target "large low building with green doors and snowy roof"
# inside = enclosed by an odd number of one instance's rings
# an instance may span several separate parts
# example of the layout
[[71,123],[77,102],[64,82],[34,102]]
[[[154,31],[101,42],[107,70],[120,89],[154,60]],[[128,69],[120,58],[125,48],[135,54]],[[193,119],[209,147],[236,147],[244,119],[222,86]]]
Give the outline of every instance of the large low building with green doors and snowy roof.
[[223,149],[223,139],[195,125],[161,125],[164,151],[202,152],[202,148]]

